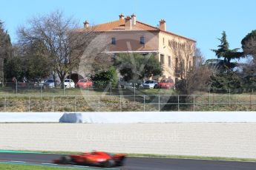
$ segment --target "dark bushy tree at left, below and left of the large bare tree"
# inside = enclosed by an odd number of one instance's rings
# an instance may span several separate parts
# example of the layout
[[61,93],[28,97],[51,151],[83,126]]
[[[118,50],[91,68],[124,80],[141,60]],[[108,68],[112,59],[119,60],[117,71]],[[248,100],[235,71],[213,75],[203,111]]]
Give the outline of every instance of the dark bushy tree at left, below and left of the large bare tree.
[[13,56],[5,65],[4,75],[8,80],[15,77],[18,81],[22,78],[33,81],[35,78],[47,78],[52,71],[47,48],[41,41],[24,46],[13,45]]

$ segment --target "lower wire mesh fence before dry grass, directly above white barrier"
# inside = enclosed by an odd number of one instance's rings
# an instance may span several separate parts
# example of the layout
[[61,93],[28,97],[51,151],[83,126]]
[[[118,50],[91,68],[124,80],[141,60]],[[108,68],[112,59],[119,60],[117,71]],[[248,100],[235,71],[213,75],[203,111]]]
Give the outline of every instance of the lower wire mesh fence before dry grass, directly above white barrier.
[[255,110],[256,95],[0,95],[0,112]]

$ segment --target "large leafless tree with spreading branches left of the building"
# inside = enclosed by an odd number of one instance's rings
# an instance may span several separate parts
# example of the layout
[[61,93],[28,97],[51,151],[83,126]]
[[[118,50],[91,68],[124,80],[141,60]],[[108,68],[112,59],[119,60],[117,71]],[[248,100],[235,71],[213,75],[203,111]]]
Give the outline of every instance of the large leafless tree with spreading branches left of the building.
[[[65,77],[77,69],[79,58],[91,32],[75,32],[76,21],[65,18],[58,10],[46,16],[38,16],[27,21],[27,27],[19,27],[19,43],[31,44],[32,41],[44,42],[50,53],[53,71],[63,84]],[[54,74],[53,74],[54,75]]]

